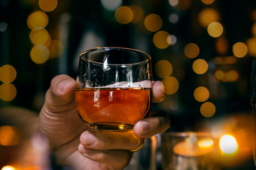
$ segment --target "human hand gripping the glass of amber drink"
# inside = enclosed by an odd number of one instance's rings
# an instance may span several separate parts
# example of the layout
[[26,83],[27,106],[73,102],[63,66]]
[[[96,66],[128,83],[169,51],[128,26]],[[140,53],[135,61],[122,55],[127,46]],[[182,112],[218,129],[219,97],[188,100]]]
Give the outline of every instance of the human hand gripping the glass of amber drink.
[[[154,114],[134,125],[134,132],[93,131],[80,120],[75,108],[75,80],[67,75],[54,77],[40,113],[40,132],[48,137],[60,164],[74,169],[124,169],[130,150],[169,128],[166,115]],[[160,81],[153,86],[153,102],[163,98]]]

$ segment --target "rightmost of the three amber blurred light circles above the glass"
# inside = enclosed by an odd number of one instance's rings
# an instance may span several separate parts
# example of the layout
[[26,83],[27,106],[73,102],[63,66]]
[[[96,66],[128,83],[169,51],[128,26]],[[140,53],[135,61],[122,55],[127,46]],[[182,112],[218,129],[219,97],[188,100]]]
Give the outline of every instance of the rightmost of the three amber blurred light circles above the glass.
[[151,32],[156,32],[161,29],[163,21],[161,17],[155,13],[151,13],[146,16],[144,20],[145,28]]

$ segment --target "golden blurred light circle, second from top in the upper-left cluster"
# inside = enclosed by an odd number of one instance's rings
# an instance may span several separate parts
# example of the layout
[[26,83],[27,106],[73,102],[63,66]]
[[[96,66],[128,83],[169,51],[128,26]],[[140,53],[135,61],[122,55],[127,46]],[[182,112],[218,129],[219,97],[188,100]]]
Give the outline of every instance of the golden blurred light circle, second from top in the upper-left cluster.
[[28,28],[41,30],[48,25],[48,16],[43,11],[36,11],[28,16]]

